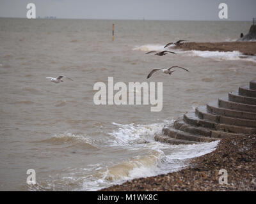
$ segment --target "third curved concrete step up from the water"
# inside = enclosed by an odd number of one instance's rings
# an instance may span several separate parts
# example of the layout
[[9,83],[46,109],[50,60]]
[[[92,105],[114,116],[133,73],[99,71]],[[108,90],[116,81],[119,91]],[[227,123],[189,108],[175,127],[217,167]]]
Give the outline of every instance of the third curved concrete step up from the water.
[[223,131],[215,131],[215,130],[209,129],[209,128],[191,126],[191,125],[187,124],[186,122],[184,122],[184,120],[176,120],[173,124],[173,127],[175,129],[179,129],[186,133],[207,136],[210,138],[227,138],[230,136],[244,136],[244,134],[227,133],[227,132],[223,132]]

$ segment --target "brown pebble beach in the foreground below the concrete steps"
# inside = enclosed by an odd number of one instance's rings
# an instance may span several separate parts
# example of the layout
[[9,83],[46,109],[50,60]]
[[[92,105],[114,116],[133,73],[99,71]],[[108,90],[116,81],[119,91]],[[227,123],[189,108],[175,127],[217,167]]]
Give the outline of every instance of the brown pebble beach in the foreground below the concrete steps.
[[[219,184],[221,169],[227,170],[228,184]],[[191,159],[184,170],[101,191],[256,191],[256,134],[225,138],[213,152]]]

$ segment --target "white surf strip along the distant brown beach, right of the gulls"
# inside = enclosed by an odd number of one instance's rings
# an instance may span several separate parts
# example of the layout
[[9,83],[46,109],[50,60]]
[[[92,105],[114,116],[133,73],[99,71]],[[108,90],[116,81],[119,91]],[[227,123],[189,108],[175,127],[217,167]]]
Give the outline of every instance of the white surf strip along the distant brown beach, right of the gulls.
[[220,52],[220,51],[201,51],[201,50],[190,50],[181,51],[181,53],[188,54],[189,56],[199,56],[204,58],[211,58],[216,60],[243,60],[256,62],[255,56],[243,55],[239,51],[232,52]]

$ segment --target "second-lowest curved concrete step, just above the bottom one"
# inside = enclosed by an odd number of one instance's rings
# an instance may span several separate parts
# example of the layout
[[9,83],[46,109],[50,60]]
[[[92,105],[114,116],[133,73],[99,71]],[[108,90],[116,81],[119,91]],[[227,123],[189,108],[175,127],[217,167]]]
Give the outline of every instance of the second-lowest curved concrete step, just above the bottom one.
[[175,129],[172,126],[166,126],[163,128],[163,135],[170,136],[170,138],[178,139],[178,140],[187,140],[187,141],[195,141],[195,142],[212,142],[218,140],[217,138],[209,138],[202,135],[193,135],[190,133],[186,133],[184,131],[180,131],[179,129]]

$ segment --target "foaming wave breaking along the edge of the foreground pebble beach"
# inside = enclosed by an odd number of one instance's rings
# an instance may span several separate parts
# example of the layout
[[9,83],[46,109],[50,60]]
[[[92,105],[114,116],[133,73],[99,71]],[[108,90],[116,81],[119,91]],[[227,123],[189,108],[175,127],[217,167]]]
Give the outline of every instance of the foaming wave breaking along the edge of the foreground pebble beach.
[[[104,187],[122,184],[127,180],[152,177],[178,171],[188,166],[188,159],[208,154],[216,149],[219,141],[195,145],[163,145],[148,156],[125,161],[97,173],[97,177],[84,179],[83,191],[97,191]],[[156,144],[157,142],[155,142]]]

